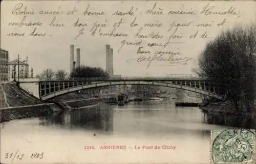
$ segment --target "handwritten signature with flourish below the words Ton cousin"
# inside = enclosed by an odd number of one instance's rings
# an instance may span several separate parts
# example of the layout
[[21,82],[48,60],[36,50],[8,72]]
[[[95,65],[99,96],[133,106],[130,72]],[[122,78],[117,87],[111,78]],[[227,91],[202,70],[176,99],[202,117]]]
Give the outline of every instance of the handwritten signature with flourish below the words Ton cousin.
[[[154,56],[141,55],[138,58],[126,60],[127,63],[136,62],[138,64],[146,63],[146,69],[150,66],[179,66],[179,65],[187,65],[188,61],[193,60],[192,58],[187,57],[175,57],[175,54],[169,54],[165,56],[165,54],[154,54]],[[165,62],[167,64],[153,64],[153,62]]]

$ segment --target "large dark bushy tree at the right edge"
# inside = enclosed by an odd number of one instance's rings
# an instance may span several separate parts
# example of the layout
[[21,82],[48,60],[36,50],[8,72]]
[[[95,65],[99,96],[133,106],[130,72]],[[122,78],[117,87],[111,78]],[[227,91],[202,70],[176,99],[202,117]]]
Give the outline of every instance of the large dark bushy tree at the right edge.
[[235,25],[207,43],[196,72],[218,84],[232,109],[250,112],[256,90],[256,26]]

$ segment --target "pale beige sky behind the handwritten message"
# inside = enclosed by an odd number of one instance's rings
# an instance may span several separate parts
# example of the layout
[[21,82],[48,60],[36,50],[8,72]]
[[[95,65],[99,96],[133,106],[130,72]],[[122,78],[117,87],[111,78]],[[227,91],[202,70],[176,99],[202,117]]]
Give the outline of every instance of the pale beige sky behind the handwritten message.
[[[213,40],[221,30],[229,29],[236,23],[248,24],[256,22],[256,2],[254,1],[1,1],[1,48],[9,51],[10,61],[17,59],[20,54],[22,60],[28,56],[30,68],[33,68],[34,74],[41,73],[46,68],[53,70],[63,69],[70,71],[70,44],[80,48],[81,65],[95,66],[105,69],[105,45],[110,44],[113,50],[114,74],[122,76],[166,76],[167,74],[190,74],[194,68],[197,68],[199,54],[204,49],[208,41]],[[163,14],[147,13],[154,7],[155,12],[162,11]],[[18,6],[23,4],[23,6]],[[104,12],[105,15],[89,16],[83,15],[88,5],[89,12]],[[209,4],[209,5],[207,5]],[[24,15],[12,14],[12,11],[34,11],[36,14],[27,15],[25,22],[40,21],[42,26],[37,26],[36,32],[46,33],[46,36],[31,37],[29,34],[34,30],[35,26],[11,26],[11,22],[20,22]],[[127,12],[133,7],[134,15],[118,16],[112,15],[116,11]],[[208,15],[200,14],[206,8],[212,8],[211,11],[228,11],[230,8],[237,14],[225,15]],[[75,8],[73,15],[67,15],[68,11]],[[15,10],[14,10],[15,9]],[[42,15],[39,11],[61,11],[60,15]],[[196,14],[170,14],[168,11],[194,11]],[[50,26],[49,23],[56,16],[56,21],[59,24],[63,23],[63,27]],[[130,23],[136,17],[138,26],[131,27]],[[79,22],[87,23],[84,34],[77,39],[75,36],[83,27],[74,27],[74,23],[79,18]],[[116,28],[116,33],[129,34],[129,37],[105,37],[99,36],[96,33],[90,35],[90,30],[93,24],[97,22],[108,22],[108,27],[102,28],[102,33],[110,33],[113,29],[113,24],[119,22],[122,18],[122,23]],[[218,23],[225,22],[223,25],[217,26]],[[56,23],[55,21],[55,23]],[[147,43],[166,43],[169,36],[172,35],[176,26],[168,32],[170,25],[177,23],[192,23],[189,26],[179,26],[177,35],[182,35],[181,39],[173,39],[164,49],[162,47],[147,47]],[[144,23],[162,23],[161,28],[143,27]],[[196,24],[208,23],[211,27],[197,27]],[[118,49],[123,42],[139,42],[141,39],[135,38],[134,35],[140,28],[143,28],[144,35],[148,37],[150,34],[162,35],[162,39],[144,38],[142,39],[141,47],[144,51],[150,51],[150,54],[144,54],[148,57],[154,56],[156,51],[175,51],[180,52],[180,57],[189,58],[186,65],[174,65],[168,62],[152,61],[150,67],[147,68],[148,62],[136,62],[140,56],[137,53],[139,46],[124,45],[119,51]],[[199,31],[195,39],[188,39],[188,36]],[[207,32],[209,38],[201,39],[199,36]],[[25,33],[25,36],[8,36],[9,33]],[[169,56],[167,55],[167,58]],[[75,55],[76,59],[76,55]],[[130,62],[127,62],[130,61]]]

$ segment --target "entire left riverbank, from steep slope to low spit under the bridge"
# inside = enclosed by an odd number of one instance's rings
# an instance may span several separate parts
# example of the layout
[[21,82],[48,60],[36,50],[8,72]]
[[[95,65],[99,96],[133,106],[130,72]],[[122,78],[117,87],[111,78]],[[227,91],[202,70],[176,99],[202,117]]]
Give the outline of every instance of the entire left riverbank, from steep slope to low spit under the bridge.
[[17,87],[15,83],[9,82],[0,84],[0,100],[0,122],[6,122],[94,106],[104,101],[104,98],[88,98],[71,93],[57,97],[53,102],[43,102],[24,89]]

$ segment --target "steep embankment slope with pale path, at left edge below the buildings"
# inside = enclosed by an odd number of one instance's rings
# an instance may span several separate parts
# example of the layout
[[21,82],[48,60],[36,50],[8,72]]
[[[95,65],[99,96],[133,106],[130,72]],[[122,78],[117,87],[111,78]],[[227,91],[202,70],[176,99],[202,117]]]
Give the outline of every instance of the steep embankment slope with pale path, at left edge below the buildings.
[[60,111],[54,103],[42,102],[13,82],[0,84],[0,100],[0,122],[40,117]]

